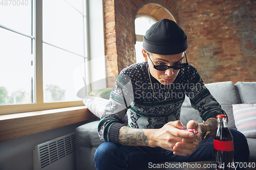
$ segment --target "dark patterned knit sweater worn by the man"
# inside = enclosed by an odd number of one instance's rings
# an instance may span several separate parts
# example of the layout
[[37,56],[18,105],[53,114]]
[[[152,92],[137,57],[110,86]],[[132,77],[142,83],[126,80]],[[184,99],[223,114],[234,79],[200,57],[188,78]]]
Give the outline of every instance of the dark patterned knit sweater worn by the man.
[[167,86],[150,74],[151,83],[147,67],[147,62],[142,62],[120,72],[98,125],[101,140],[119,143],[118,131],[124,126],[125,114],[127,126],[131,128],[158,129],[179,120],[185,95],[204,121],[226,114],[204,86],[195,67],[188,65],[180,69],[174,83]]

